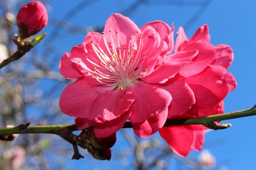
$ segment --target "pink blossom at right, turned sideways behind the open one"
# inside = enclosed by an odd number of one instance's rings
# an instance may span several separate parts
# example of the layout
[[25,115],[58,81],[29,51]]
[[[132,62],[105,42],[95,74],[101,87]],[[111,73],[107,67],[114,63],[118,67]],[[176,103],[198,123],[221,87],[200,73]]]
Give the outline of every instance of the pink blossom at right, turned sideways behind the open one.
[[[210,44],[207,25],[201,26],[190,40],[182,27],[177,33],[179,36],[175,42],[174,54],[191,50],[198,50],[199,53],[176,75],[177,80],[189,88],[194,98],[172,94],[168,118],[204,117],[224,113],[222,100],[236,87],[233,75],[226,73],[233,61],[232,49],[228,45]],[[169,92],[174,91],[176,87],[170,86],[172,81],[168,80],[163,88]],[[189,100],[193,100],[192,105]],[[183,103],[182,108],[176,108],[179,103]],[[180,116],[181,111],[186,113]],[[206,129],[202,125],[187,125],[162,128],[159,132],[176,154],[186,156],[191,150],[201,150]]]

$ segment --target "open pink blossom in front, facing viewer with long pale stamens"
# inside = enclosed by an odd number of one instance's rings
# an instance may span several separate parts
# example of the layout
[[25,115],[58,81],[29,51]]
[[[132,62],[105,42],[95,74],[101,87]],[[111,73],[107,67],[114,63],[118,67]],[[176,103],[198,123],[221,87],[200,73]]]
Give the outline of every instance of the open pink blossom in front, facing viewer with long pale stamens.
[[126,120],[139,137],[149,137],[166,122],[173,94],[185,97],[175,109],[186,107],[174,115],[187,111],[195,96],[176,74],[198,51],[170,54],[173,31],[174,25],[160,21],[139,29],[129,18],[111,15],[102,35],[88,33],[61,58],[60,73],[77,79],[61,94],[61,111],[75,117],[79,129],[93,125],[98,138],[114,134]]

